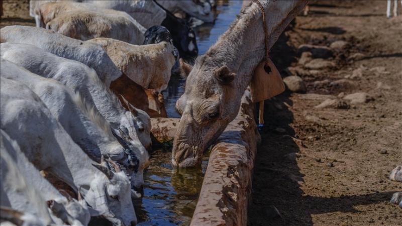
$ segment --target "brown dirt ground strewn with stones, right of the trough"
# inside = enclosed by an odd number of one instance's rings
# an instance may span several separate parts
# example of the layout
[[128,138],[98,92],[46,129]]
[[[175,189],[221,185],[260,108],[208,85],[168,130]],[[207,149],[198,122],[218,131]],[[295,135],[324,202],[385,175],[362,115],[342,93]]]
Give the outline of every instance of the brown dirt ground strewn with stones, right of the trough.
[[[310,9],[271,51],[282,75],[298,69],[307,93],[265,102],[249,225],[401,225],[402,209],[389,200],[402,183],[388,175],[402,163],[402,17],[387,19],[386,1],[320,1]],[[349,47],[329,58],[334,68],[297,63],[299,45],[337,40]],[[342,92],[374,100],[314,107]]]

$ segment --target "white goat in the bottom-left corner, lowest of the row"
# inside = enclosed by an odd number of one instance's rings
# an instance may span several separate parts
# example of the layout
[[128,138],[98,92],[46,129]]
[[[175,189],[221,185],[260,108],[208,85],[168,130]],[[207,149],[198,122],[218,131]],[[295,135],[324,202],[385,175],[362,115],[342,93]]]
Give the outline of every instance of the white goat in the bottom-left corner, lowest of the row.
[[[10,207],[23,212],[39,211],[41,207],[31,208],[33,205],[48,202],[52,219],[58,223],[70,225],[87,225],[90,214],[85,201],[77,201],[71,197],[64,197],[53,187],[39,171],[28,161],[21,152],[18,144],[3,130],[0,135],[2,156],[2,187],[5,188]],[[8,172],[8,174],[3,170]],[[14,172],[13,172],[14,171]],[[24,183],[25,182],[25,183]],[[24,186],[25,184],[25,186]],[[33,194],[33,197],[30,197]],[[34,200],[27,200],[34,198]],[[39,199],[39,200],[38,200]],[[3,205],[3,204],[2,204]]]

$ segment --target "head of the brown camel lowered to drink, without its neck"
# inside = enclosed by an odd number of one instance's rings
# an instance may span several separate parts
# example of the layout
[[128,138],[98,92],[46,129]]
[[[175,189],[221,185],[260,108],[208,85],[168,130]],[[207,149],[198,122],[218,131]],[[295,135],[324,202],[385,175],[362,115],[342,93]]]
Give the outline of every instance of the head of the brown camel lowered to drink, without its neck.
[[203,152],[236,117],[243,93],[235,78],[235,70],[208,54],[197,58],[176,102],[182,116],[173,142],[173,165],[200,164]]

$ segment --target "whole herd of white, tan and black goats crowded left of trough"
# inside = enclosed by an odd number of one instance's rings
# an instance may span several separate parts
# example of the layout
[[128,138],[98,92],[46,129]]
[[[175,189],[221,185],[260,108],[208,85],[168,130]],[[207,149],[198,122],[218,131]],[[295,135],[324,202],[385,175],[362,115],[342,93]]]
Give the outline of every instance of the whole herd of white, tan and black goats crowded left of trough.
[[197,55],[190,21],[213,22],[213,7],[31,1],[37,27],[1,29],[2,221],[137,223],[132,198],[149,164],[150,117],[166,117],[159,92],[184,65],[180,55]]

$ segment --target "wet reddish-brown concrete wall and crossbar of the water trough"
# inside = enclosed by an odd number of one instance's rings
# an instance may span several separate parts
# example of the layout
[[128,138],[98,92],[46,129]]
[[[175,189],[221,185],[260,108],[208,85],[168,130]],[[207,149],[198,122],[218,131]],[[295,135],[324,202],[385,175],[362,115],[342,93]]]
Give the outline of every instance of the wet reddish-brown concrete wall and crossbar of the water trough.
[[[151,119],[156,140],[173,140],[179,119]],[[246,90],[241,107],[215,142],[190,225],[247,225],[251,177],[260,135]]]

